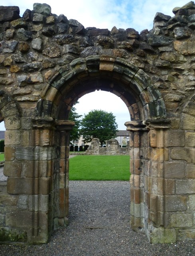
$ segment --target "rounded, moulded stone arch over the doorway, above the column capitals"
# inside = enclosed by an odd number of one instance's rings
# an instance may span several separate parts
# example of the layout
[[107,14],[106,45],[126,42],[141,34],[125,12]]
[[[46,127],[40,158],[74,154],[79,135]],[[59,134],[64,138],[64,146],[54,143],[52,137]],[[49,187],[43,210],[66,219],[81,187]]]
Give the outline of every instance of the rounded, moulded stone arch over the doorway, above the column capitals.
[[77,58],[61,67],[43,91],[36,116],[68,119],[68,114],[62,118],[61,109],[68,113],[81,96],[97,88],[120,96],[131,120],[166,117],[164,101],[160,91],[152,86],[150,77],[131,62],[113,56]]

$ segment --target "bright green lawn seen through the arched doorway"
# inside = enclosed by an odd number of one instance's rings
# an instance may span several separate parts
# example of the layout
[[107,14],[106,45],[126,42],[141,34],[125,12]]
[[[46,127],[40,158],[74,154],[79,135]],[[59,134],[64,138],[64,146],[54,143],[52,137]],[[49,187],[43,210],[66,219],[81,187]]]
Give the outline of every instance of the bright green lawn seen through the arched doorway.
[[129,180],[130,156],[75,156],[69,160],[70,180]]

